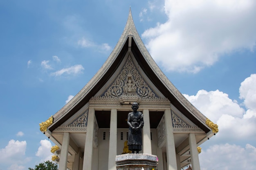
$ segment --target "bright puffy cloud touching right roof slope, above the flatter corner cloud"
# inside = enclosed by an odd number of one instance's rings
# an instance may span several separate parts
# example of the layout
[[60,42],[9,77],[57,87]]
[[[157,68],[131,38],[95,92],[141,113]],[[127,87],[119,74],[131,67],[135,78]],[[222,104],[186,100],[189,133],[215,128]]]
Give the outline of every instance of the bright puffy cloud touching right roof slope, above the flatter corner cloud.
[[240,98],[244,99],[245,106],[249,108],[247,110],[218,90],[210,92],[200,90],[195,96],[184,96],[206,117],[218,124],[219,132],[216,138],[219,141],[255,141],[256,110],[253,105],[256,103],[256,97],[253,97],[256,95],[255,82],[256,75],[252,74],[240,86]]

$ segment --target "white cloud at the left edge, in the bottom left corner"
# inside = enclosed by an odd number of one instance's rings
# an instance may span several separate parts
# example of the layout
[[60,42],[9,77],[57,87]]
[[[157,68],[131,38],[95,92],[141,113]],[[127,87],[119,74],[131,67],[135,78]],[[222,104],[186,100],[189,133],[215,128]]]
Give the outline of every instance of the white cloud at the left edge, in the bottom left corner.
[[11,139],[5,148],[0,149],[0,164],[18,166],[19,164],[28,162],[30,158],[25,157],[26,148],[26,141],[15,141]]

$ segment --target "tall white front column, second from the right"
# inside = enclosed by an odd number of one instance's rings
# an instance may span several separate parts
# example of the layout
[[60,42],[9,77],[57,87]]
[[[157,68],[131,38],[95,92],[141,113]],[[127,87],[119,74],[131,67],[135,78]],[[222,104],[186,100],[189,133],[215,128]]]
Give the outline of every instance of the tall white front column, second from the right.
[[164,121],[166,130],[166,156],[168,166],[167,170],[177,170],[173,124],[171,120],[171,109],[164,110]]

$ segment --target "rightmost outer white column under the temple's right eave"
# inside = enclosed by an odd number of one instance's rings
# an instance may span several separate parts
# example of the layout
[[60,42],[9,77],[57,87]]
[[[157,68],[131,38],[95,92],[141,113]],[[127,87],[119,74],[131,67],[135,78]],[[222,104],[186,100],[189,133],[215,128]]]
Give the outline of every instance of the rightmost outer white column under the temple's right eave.
[[193,170],[200,170],[200,163],[198,157],[198,149],[195,140],[195,133],[189,133],[189,149],[191,157],[191,165]]

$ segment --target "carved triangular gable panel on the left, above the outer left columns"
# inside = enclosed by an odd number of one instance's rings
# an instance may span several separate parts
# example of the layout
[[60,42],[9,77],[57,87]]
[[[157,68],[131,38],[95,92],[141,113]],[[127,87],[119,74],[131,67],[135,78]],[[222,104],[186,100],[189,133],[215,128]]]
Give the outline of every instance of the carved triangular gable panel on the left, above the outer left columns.
[[88,121],[88,110],[86,110],[82,115],[77,117],[68,125],[61,125],[56,130],[87,130],[87,121]]

